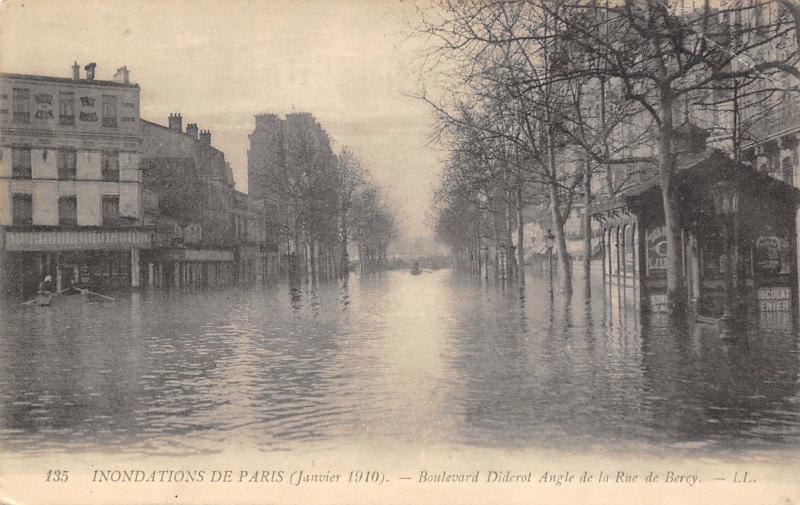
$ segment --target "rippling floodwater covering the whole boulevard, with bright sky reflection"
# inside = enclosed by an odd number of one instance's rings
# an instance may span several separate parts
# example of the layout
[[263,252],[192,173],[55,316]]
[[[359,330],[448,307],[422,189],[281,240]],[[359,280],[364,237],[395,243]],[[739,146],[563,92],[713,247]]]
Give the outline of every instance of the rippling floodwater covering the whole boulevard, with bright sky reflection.
[[176,454],[358,441],[494,448],[796,448],[791,320],[734,343],[440,270],[291,288],[6,304],[0,444]]

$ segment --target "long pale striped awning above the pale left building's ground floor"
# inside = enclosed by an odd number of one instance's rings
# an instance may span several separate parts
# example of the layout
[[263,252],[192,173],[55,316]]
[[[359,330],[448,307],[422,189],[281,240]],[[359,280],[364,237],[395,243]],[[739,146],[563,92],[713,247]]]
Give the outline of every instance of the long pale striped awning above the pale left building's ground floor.
[[80,251],[150,249],[155,231],[151,227],[84,227],[72,230],[35,227],[7,228],[6,251]]

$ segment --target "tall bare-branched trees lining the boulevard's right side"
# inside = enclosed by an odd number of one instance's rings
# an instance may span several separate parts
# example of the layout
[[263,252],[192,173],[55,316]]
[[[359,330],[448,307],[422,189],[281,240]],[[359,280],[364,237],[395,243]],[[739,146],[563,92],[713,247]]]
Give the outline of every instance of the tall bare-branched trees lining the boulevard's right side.
[[[651,171],[666,223],[668,303],[681,308],[676,138],[691,119],[741,156],[750,127],[797,87],[797,5],[439,0],[419,14],[433,48],[425,65],[443,83],[421,98],[451,153],[435,201],[440,238],[460,250],[492,235],[510,245],[516,227],[521,245],[524,209],[546,206],[571,292],[564,224],[573,204],[588,208],[596,193],[614,197],[637,171]],[[521,265],[521,247],[517,254]]]

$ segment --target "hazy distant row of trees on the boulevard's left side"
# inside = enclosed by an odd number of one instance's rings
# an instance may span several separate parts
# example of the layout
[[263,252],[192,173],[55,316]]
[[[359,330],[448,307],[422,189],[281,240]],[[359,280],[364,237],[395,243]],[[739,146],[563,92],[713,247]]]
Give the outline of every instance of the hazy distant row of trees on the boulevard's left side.
[[381,268],[395,238],[395,218],[367,170],[346,148],[334,154],[327,132],[310,114],[270,119],[257,122],[251,136],[251,164],[259,165],[251,173],[259,174],[264,188],[272,236],[290,252],[290,274],[346,276],[351,242],[362,271]]

